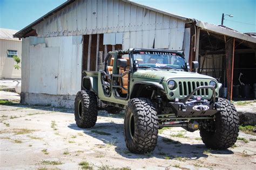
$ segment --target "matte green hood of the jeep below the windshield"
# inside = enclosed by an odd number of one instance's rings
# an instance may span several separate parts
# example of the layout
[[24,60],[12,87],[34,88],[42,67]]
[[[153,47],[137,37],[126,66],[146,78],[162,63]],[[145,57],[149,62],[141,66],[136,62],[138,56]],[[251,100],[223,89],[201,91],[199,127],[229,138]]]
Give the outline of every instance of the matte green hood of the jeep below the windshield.
[[160,80],[164,77],[163,81],[167,81],[169,79],[175,78],[195,78],[195,79],[213,79],[211,76],[193,73],[193,72],[183,72],[176,70],[137,70],[137,72],[133,73],[133,77],[143,78],[143,79],[152,79],[152,80]]

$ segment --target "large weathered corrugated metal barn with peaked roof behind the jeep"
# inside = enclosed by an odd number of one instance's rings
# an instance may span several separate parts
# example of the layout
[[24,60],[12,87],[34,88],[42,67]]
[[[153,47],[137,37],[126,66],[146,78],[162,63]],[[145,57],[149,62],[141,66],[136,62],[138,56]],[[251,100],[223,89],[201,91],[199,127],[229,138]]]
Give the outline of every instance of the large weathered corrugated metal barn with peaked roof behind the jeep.
[[82,70],[98,70],[99,58],[115,49],[182,50],[190,63],[199,60],[200,30],[208,36],[256,42],[242,33],[131,1],[69,0],[14,35],[23,39],[22,103],[73,107]]

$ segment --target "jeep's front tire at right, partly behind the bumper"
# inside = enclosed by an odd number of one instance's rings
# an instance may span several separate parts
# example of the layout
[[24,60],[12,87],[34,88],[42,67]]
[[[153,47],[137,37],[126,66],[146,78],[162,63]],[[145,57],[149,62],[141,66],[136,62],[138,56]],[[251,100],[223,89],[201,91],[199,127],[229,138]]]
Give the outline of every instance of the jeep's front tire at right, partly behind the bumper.
[[215,114],[215,131],[200,129],[203,143],[210,148],[224,150],[237,141],[239,132],[239,118],[234,105],[224,98],[220,98],[220,112]]

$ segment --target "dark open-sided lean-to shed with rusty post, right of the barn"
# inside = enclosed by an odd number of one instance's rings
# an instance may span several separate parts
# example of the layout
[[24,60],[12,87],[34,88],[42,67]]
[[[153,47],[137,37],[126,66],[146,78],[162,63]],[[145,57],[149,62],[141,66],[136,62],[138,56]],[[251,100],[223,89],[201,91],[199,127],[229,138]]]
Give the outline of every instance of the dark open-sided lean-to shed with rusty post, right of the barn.
[[[186,24],[186,29],[190,29],[191,34],[190,63],[199,61],[199,73],[213,76],[223,83],[224,88],[220,91],[222,96],[228,100],[240,96],[235,94],[232,97],[233,85],[240,85],[240,73],[242,82],[253,87],[256,83],[256,38],[252,34],[198,20]],[[252,88],[250,90],[253,91]],[[243,94],[242,97],[254,98],[254,93]]]

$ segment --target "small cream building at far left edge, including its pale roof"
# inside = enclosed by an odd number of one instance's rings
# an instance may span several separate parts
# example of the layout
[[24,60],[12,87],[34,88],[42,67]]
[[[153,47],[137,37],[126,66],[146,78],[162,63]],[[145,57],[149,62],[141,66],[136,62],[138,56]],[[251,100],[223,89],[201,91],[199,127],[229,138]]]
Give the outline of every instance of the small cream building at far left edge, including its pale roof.
[[[16,62],[12,56],[21,58],[22,41],[12,37],[17,30],[0,29],[0,78],[21,79],[21,69],[15,69]],[[21,65],[21,64],[20,64]]]

